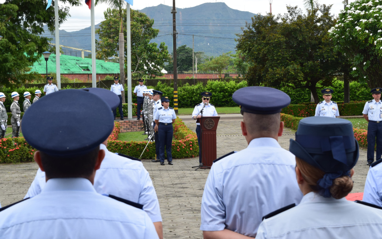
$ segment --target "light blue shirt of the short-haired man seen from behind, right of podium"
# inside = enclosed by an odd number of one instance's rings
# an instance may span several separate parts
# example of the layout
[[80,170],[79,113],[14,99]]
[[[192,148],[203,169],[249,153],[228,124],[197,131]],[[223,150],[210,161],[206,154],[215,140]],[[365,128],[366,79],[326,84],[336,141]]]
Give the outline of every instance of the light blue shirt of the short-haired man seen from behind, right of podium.
[[212,164],[200,229],[228,229],[255,237],[263,216],[303,197],[295,166],[295,156],[274,138],[256,138],[248,148]]

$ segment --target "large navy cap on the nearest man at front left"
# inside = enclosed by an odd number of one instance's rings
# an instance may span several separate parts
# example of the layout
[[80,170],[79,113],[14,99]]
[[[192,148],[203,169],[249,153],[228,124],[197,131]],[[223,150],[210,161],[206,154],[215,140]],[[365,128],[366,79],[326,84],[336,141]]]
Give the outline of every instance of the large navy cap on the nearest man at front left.
[[113,119],[103,99],[85,90],[65,89],[42,97],[28,108],[23,117],[23,135],[29,145],[44,153],[81,155],[109,137]]

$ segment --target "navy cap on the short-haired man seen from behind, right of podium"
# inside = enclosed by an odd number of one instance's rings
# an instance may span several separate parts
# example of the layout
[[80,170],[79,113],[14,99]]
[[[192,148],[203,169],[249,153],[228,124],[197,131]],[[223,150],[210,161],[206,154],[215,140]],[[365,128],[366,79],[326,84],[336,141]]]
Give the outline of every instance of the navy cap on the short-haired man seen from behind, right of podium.
[[284,92],[262,86],[238,89],[232,95],[233,101],[244,112],[252,114],[276,114],[290,104],[290,97]]

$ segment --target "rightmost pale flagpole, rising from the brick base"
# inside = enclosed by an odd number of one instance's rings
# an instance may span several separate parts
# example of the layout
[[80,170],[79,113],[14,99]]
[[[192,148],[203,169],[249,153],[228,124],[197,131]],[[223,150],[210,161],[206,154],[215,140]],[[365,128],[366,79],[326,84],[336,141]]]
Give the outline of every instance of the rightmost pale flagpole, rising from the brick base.
[[131,33],[130,33],[130,4],[126,7],[126,47],[127,47],[127,115],[133,119],[133,102],[131,94]]

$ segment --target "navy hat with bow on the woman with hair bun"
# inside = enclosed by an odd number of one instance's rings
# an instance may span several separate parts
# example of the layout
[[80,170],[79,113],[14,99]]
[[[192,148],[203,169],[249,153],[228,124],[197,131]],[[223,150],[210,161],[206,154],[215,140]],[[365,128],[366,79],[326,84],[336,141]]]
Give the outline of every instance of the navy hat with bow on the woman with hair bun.
[[358,161],[359,147],[349,120],[308,117],[300,120],[289,151],[325,173],[348,171]]

